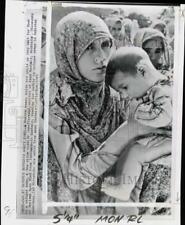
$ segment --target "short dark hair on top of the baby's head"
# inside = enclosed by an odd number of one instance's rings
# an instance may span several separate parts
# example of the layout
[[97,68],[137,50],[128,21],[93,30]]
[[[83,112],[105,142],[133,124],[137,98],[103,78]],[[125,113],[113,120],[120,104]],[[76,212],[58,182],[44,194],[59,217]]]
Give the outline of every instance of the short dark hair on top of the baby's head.
[[139,47],[121,47],[111,57],[106,71],[105,82],[111,85],[116,72],[136,75],[137,64],[140,60],[146,59],[150,62],[147,53]]

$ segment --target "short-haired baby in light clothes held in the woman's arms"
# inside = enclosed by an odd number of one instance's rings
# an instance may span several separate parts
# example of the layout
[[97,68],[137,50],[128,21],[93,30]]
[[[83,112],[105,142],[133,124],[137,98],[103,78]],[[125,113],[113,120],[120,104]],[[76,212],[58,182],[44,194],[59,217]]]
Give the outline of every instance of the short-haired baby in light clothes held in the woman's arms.
[[[123,99],[129,99],[129,120],[153,128],[166,130],[166,135],[150,134],[137,140],[145,146],[141,151],[128,151],[117,164],[117,184],[104,182],[102,191],[128,201],[142,171],[142,165],[161,157],[160,146],[171,141],[169,131],[172,124],[172,82],[160,74],[152,65],[147,53],[138,47],[119,48],[107,67],[106,83],[120,92]],[[171,142],[170,142],[171,143]],[[171,153],[167,149],[166,155]],[[157,161],[160,164],[160,160]],[[125,176],[136,178],[135,182],[122,182]]]

